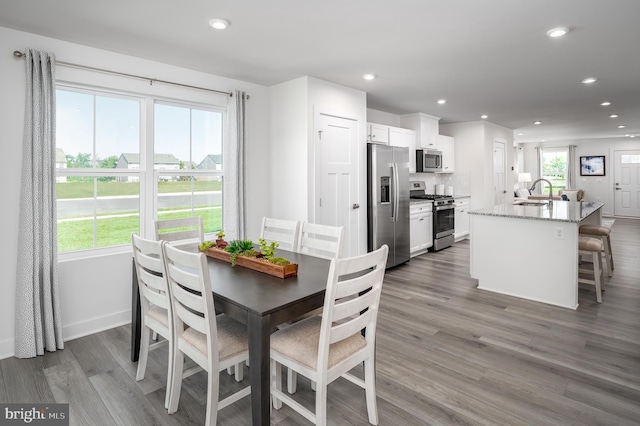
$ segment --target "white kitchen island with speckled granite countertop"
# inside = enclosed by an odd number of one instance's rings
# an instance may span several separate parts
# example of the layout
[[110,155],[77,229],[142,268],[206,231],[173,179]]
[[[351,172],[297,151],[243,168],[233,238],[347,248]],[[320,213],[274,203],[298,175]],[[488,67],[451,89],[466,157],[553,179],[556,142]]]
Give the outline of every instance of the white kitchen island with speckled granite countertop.
[[[533,203],[526,203],[533,204]],[[603,203],[501,204],[469,212],[478,288],[578,307],[578,228],[601,223]]]

